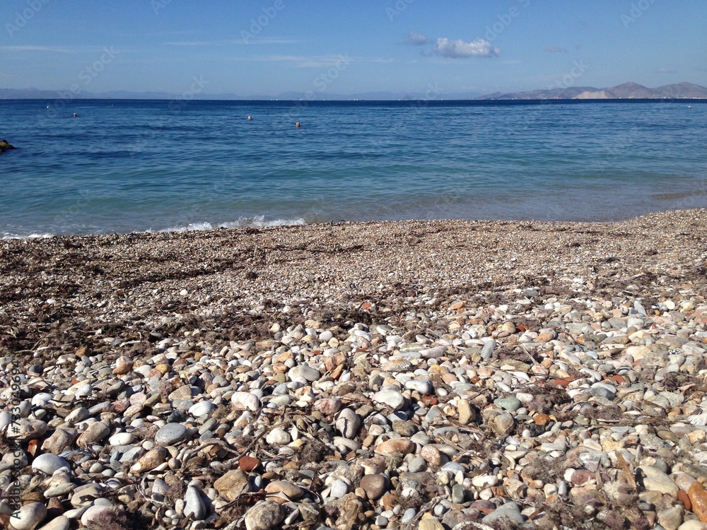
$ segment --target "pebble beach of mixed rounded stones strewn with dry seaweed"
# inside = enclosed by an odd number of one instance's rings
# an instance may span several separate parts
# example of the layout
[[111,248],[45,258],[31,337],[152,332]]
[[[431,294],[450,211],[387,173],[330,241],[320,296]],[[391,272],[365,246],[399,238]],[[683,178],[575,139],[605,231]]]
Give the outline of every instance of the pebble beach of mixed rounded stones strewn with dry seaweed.
[[707,529],[707,210],[0,242],[15,530]]

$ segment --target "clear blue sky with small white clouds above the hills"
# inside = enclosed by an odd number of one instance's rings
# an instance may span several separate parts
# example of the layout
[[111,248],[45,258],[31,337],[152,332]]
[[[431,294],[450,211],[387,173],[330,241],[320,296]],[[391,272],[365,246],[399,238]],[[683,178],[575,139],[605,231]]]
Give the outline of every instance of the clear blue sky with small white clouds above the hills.
[[707,86],[705,0],[2,0],[0,88],[199,95]]

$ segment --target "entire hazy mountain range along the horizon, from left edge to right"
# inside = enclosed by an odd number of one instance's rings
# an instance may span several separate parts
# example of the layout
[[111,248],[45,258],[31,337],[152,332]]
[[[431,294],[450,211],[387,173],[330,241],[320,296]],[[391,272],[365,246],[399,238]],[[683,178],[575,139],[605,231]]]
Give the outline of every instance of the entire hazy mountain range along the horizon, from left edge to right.
[[[313,98],[313,99],[312,99]],[[27,88],[17,90],[0,88],[0,100],[180,100],[180,95],[166,92],[117,92],[103,93],[67,93],[61,90],[38,90]],[[303,93],[286,92],[275,96],[236,94],[199,94],[194,97],[199,100],[250,100],[250,101],[399,101],[399,100],[633,100],[633,99],[707,99],[707,88],[694,83],[677,83],[674,85],[647,88],[638,83],[624,83],[612,88],[594,88],[591,86],[573,86],[568,88],[552,88],[547,90],[530,90],[529,92],[501,93],[489,95],[479,93],[394,93],[366,92],[360,94],[335,93]]]

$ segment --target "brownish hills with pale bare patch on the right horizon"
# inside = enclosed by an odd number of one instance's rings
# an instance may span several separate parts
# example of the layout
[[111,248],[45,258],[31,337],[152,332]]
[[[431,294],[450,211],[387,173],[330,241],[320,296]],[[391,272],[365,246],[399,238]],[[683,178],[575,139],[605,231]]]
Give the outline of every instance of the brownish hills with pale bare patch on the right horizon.
[[612,88],[573,86],[549,90],[530,90],[503,94],[496,92],[481,96],[480,100],[637,100],[637,99],[707,99],[707,88],[694,83],[648,88],[638,83],[624,83]]

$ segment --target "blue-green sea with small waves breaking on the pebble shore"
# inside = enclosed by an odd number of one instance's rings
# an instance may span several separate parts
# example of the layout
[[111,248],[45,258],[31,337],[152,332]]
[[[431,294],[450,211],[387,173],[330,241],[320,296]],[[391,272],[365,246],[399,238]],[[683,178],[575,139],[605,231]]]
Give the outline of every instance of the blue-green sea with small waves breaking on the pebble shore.
[[0,238],[705,208],[706,103],[0,100]]

